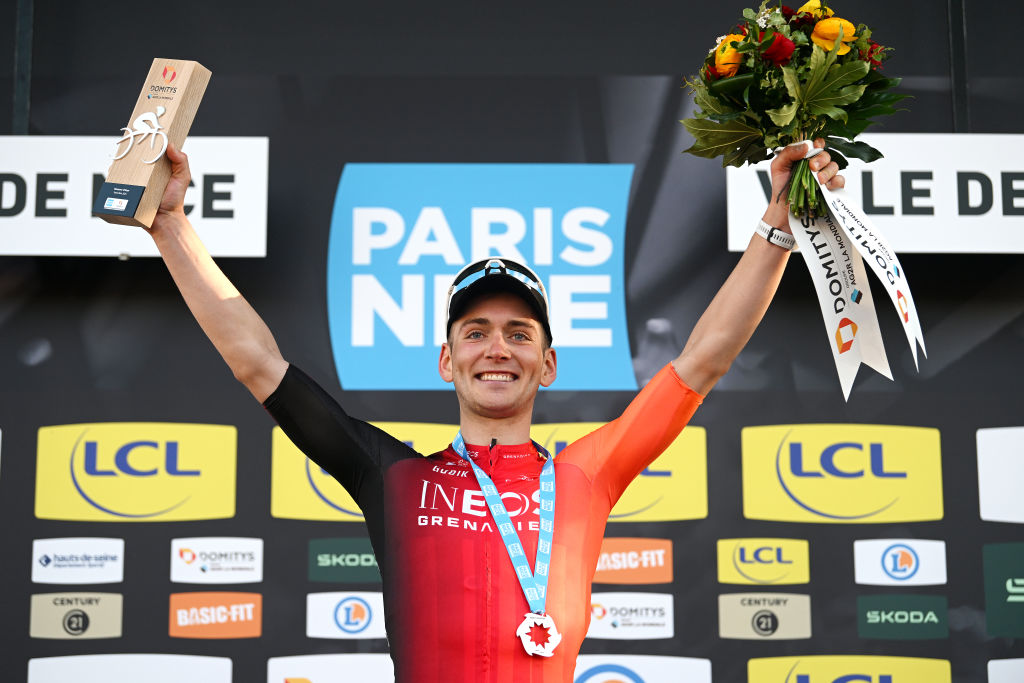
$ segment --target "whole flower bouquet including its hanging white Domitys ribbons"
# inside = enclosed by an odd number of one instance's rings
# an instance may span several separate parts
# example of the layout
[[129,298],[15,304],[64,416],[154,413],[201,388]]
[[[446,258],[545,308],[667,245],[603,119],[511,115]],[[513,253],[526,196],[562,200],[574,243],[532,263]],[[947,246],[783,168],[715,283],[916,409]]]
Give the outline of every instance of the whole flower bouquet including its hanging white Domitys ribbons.
[[[880,72],[889,51],[871,40],[870,29],[836,16],[821,0],[797,10],[767,2],[757,11],[744,9],[743,22],[718,40],[699,75],[687,81],[697,113],[683,121],[695,140],[686,152],[738,167],[769,159],[777,147],[823,137],[841,169],[848,157],[874,161],[882,154],[854,138],[876,117],[895,113],[905,96],[892,91],[899,79]],[[811,273],[849,397],[861,364],[892,379],[866,268],[899,313],[916,364],[918,345],[924,349],[925,342],[913,297],[882,233],[842,189],[821,185],[807,159],[793,167],[787,189],[790,229]]]

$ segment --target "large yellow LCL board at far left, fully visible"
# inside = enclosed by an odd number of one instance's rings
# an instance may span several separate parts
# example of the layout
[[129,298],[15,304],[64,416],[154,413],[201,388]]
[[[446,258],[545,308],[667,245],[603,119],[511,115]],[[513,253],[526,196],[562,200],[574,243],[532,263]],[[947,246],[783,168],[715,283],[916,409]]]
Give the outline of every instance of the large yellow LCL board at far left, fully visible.
[[183,521],[234,516],[236,429],[96,423],[41,427],[36,516]]

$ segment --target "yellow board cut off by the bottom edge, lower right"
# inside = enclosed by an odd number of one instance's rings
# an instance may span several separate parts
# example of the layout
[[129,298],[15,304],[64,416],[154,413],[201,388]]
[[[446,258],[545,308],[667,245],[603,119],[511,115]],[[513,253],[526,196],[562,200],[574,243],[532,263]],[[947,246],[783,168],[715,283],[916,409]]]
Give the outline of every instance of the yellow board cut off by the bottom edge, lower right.
[[951,683],[947,659],[816,654],[746,663],[748,683]]

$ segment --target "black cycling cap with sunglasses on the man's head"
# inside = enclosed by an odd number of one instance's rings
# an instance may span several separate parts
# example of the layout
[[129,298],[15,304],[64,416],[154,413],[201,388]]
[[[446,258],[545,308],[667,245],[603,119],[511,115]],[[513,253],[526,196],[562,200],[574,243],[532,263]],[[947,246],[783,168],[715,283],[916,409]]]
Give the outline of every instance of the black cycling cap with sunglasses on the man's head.
[[462,316],[475,297],[497,292],[515,294],[529,304],[537,314],[538,322],[544,328],[544,333],[548,335],[548,344],[551,344],[548,293],[544,289],[544,283],[536,272],[509,258],[483,259],[470,263],[459,271],[452,287],[449,288],[445,331],[452,333],[452,324]]

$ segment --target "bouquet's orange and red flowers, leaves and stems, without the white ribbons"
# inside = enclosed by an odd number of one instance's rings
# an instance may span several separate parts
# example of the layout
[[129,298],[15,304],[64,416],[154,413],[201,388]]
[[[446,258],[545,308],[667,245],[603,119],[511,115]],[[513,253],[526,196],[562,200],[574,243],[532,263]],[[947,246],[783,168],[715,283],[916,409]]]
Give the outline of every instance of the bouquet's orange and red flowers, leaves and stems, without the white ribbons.
[[[699,75],[687,81],[698,111],[682,122],[695,139],[686,152],[738,167],[769,159],[776,147],[824,137],[841,169],[847,157],[880,159],[882,153],[853,138],[906,96],[892,91],[900,79],[881,73],[891,48],[820,0],[796,10],[767,5],[744,9],[743,22],[718,39]],[[807,161],[798,164],[790,187],[795,215],[824,213],[817,189]]]

